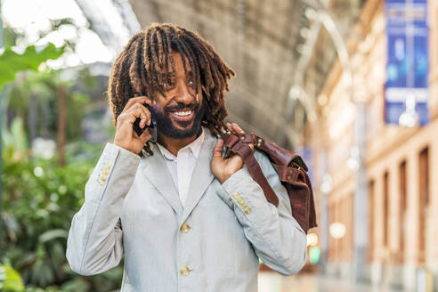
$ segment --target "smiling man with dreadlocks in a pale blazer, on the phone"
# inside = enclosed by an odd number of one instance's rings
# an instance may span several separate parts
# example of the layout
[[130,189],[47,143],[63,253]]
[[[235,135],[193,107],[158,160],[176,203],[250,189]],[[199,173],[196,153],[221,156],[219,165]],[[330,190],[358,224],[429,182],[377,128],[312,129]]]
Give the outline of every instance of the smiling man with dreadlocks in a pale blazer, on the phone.
[[255,152],[278,207],[242,158],[223,158],[217,135],[243,132],[224,121],[233,75],[188,29],[154,23],[132,37],[110,74],[114,142],[69,231],[73,271],[105,272],[125,255],[125,292],[256,291],[259,259],[282,274],[302,268],[306,237],[268,158]]

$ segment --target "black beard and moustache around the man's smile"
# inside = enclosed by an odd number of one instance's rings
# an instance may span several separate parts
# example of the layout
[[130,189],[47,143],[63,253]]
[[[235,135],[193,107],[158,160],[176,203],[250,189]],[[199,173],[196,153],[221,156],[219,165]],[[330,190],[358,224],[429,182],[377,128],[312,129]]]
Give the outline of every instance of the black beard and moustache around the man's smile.
[[[171,111],[176,110],[193,110],[193,112],[195,113],[195,118],[193,120],[193,125],[190,128],[182,130],[174,127],[174,124],[169,118],[169,115]],[[185,105],[179,102],[178,105],[167,107],[163,111],[157,110],[156,108],[150,108],[150,111],[152,112],[152,116],[157,121],[158,130],[162,134],[166,135],[169,138],[183,139],[190,138],[199,134],[201,122],[206,112],[206,107],[204,106],[204,102],[200,107],[198,103]],[[175,121],[175,123],[177,123],[179,126],[186,127],[191,124],[191,121]]]

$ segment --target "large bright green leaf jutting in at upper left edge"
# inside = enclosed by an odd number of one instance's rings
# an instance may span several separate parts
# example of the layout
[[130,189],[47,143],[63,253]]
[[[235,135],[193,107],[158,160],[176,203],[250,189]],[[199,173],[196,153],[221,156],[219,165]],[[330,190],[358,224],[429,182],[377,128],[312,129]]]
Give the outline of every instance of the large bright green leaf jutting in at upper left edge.
[[0,89],[8,82],[15,79],[17,72],[26,69],[37,71],[39,65],[49,59],[58,59],[64,53],[64,47],[60,49],[49,43],[43,50],[37,51],[35,45],[30,45],[22,54],[15,53],[12,48],[5,48],[0,55]]

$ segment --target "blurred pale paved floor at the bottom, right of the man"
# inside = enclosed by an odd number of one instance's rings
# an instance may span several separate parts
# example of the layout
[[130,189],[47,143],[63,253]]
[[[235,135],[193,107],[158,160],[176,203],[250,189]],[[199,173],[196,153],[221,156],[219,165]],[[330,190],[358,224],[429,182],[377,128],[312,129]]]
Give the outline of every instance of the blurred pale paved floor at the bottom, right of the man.
[[276,272],[260,272],[259,292],[392,292],[388,288],[355,285],[348,280],[321,277],[317,274],[283,277]]

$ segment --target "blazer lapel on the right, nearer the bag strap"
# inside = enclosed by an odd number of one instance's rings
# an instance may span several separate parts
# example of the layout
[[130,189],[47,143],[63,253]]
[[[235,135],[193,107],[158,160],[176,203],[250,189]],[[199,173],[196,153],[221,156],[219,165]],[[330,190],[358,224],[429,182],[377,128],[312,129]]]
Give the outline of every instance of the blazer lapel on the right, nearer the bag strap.
[[191,185],[189,187],[189,194],[185,202],[183,215],[180,217],[180,225],[191,214],[191,211],[198,204],[199,199],[202,198],[204,192],[207,190],[208,185],[210,185],[215,178],[211,172],[210,161],[213,155],[213,148],[215,147],[216,139],[207,128],[204,128],[204,131],[206,131],[206,141],[199,151],[196,166],[191,175]]

